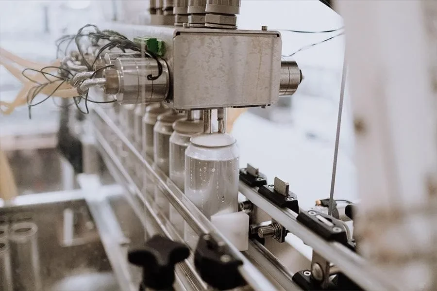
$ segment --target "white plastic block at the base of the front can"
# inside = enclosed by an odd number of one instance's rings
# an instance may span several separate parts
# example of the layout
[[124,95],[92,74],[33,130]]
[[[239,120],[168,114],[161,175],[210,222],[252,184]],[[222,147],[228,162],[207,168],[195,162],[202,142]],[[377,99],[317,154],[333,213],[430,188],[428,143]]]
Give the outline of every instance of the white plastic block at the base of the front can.
[[215,214],[211,223],[218,228],[239,251],[249,247],[249,215],[244,212]]

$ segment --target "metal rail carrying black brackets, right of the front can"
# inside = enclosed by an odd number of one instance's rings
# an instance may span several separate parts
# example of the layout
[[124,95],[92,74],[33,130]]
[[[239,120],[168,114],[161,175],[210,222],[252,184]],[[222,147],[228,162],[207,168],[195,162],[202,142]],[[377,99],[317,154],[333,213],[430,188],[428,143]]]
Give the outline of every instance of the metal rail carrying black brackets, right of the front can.
[[278,223],[285,226],[292,234],[311,246],[314,251],[323,254],[324,258],[334,263],[351,280],[366,290],[401,290],[396,282],[373,269],[363,258],[338,242],[326,242],[306,226],[296,220],[297,214],[291,210],[280,209],[257,193],[257,187],[248,187],[239,183],[239,191],[254,205],[264,210]]

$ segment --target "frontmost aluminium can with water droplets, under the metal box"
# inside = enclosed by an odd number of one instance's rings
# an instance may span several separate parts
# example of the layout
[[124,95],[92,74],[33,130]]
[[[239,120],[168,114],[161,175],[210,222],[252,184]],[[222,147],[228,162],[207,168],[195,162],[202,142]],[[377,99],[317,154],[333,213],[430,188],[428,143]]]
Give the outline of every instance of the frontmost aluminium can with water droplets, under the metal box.
[[235,139],[222,133],[193,136],[185,151],[185,195],[212,215],[238,209],[239,153]]

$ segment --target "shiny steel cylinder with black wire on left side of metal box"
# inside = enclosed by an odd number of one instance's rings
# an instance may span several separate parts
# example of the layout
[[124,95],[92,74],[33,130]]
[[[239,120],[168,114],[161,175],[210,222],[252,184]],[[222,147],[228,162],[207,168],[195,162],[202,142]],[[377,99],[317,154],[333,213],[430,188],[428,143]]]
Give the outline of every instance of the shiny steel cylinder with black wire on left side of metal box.
[[165,61],[159,61],[162,74],[156,80],[149,76],[158,75],[158,63],[153,58],[118,58],[119,90],[117,100],[121,104],[161,102],[167,98],[170,77]]

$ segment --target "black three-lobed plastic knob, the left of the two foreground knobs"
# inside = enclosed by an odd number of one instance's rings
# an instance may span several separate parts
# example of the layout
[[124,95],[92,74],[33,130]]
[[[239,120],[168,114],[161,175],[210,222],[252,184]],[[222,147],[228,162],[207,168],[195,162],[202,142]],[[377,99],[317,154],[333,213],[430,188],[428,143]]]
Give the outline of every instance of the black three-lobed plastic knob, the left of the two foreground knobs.
[[173,290],[174,265],[188,258],[190,250],[179,242],[155,235],[141,249],[130,251],[129,262],[143,268],[140,291]]

